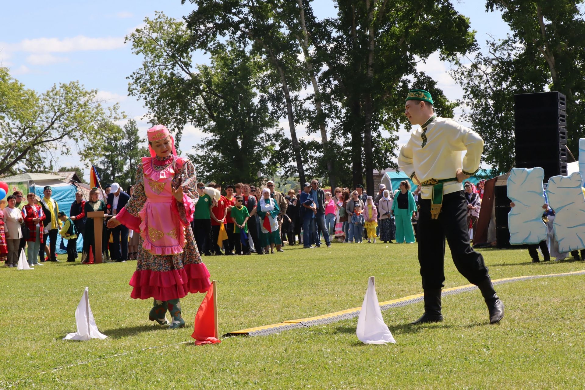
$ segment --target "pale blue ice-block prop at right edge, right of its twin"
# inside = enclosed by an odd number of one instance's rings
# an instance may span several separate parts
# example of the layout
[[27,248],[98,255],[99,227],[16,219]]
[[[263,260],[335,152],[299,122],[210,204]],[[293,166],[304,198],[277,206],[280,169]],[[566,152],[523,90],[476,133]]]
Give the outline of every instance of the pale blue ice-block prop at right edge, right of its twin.
[[555,210],[556,240],[559,252],[585,249],[585,197],[581,190],[581,174],[553,176],[546,188],[550,207]]

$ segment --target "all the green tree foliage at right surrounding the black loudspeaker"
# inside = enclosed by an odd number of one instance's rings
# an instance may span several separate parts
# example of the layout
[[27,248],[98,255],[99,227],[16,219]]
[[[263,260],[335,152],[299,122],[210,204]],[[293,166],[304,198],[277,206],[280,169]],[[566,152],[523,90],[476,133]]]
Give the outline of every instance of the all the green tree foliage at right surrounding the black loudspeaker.
[[[466,117],[486,142],[493,172],[514,166],[514,95],[559,91],[567,96],[567,146],[577,156],[585,137],[585,20],[583,0],[488,0],[511,36],[487,42],[484,52],[452,74],[466,92]],[[535,150],[535,153],[538,151]]]

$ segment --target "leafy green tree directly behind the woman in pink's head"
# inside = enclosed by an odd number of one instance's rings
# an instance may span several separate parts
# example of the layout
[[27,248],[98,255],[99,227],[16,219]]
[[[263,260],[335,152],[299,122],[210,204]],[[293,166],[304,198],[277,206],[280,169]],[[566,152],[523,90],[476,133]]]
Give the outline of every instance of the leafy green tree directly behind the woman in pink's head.
[[130,94],[141,96],[155,121],[170,123],[176,134],[191,124],[208,137],[191,155],[200,178],[233,184],[257,182],[258,174],[274,174],[269,163],[281,137],[280,112],[267,94],[263,58],[242,42],[209,42],[210,65],[193,65],[197,47],[180,20],[157,13],[127,37],[142,67],[131,76]]

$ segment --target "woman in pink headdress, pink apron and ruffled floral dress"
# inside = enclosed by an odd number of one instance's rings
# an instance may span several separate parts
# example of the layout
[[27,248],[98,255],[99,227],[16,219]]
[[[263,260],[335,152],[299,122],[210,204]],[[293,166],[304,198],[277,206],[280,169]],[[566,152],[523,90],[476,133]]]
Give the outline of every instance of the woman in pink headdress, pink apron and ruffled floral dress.
[[136,271],[130,279],[132,298],[154,298],[149,319],[170,328],[185,326],[180,298],[209,289],[209,271],[201,261],[190,222],[197,177],[191,161],[177,157],[173,136],[163,125],[148,130],[151,157],[136,171],[134,194],[108,227],[120,224],[140,233]]

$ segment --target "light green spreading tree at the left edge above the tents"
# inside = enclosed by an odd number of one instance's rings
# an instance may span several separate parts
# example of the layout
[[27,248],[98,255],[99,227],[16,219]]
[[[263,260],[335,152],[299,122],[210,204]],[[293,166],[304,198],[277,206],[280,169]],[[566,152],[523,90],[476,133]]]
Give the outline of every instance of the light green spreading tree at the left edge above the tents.
[[54,153],[70,154],[71,143],[82,159],[95,160],[105,141],[99,125],[120,117],[118,105],[104,108],[97,92],[72,81],[37,95],[0,68],[0,175],[51,171]]

